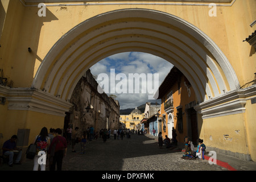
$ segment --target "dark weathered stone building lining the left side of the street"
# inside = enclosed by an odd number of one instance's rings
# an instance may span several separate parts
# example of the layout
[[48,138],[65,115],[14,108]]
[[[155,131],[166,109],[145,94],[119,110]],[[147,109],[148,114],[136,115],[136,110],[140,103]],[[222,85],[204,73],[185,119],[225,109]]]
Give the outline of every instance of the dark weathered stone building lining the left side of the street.
[[119,128],[119,102],[106,93],[98,93],[97,86],[89,69],[73,91],[70,101],[73,107],[65,117],[64,131],[69,125],[73,129],[79,127],[81,134],[91,126],[96,132]]

